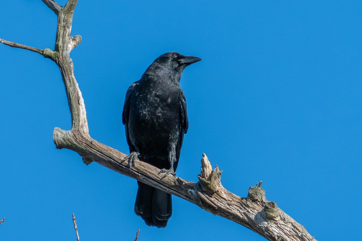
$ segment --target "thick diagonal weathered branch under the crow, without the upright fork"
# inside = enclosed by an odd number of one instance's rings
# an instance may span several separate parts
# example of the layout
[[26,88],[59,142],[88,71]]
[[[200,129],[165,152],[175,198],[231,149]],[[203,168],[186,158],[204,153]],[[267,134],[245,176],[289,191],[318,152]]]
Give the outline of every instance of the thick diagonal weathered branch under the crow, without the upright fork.
[[[312,239],[302,225],[285,214],[274,202],[268,203],[264,189],[252,186],[249,188],[247,198],[226,190],[220,182],[222,172],[217,166],[211,173],[202,171],[197,183],[173,176],[161,180],[161,176],[158,175],[159,169],[156,167],[138,160],[130,170],[127,163],[120,164],[126,154],[97,142],[77,130],[65,131],[55,128],[53,139],[57,148],[76,151],[88,164],[91,161],[97,162],[118,173],[181,197],[214,215],[239,223],[268,240],[279,241],[284,236],[290,241]],[[211,165],[206,160],[207,157],[203,154],[202,166]],[[207,181],[209,176],[211,176],[210,181]]]

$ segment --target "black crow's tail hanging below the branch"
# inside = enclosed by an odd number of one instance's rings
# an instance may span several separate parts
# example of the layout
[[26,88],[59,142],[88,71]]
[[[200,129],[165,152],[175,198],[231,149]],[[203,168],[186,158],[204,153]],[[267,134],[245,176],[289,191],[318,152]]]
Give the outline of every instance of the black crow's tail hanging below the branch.
[[172,215],[172,195],[140,181],[135,202],[135,213],[148,226],[164,228]]

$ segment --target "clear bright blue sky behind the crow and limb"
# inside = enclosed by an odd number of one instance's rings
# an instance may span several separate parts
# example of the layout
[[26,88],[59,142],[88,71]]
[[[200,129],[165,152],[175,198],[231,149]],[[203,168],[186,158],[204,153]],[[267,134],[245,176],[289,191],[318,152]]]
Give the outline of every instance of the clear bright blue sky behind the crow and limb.
[[[64,5],[66,1],[59,1]],[[181,78],[190,128],[177,175],[197,181],[202,152],[222,184],[266,197],[317,240],[358,240],[362,161],[361,1],[80,0],[72,51],[90,135],[127,152],[127,87],[159,55],[203,61]],[[40,0],[2,1],[0,38],[54,49]],[[70,129],[58,67],[0,44],[0,240],[264,240],[177,197],[167,228],[134,214],[136,181],[83,164],[52,142]]]

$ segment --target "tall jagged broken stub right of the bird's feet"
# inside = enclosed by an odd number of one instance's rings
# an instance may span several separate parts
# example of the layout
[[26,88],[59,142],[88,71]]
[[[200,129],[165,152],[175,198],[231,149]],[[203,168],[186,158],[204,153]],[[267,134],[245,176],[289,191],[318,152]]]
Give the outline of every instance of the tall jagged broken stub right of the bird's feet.
[[202,189],[208,193],[215,193],[221,186],[221,173],[218,165],[215,169],[212,170],[211,163],[207,158],[206,154],[202,154],[203,158],[201,159],[201,173],[198,175],[199,184]]

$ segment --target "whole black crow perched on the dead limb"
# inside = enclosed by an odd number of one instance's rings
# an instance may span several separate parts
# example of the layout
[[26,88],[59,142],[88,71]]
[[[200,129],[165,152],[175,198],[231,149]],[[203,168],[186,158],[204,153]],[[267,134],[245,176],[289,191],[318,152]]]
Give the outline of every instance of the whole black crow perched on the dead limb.
[[[179,83],[186,66],[201,59],[169,52],[158,57],[126,93],[122,122],[130,155],[176,177],[184,134],[189,127],[186,99]],[[172,196],[138,181],[134,211],[149,226],[164,228],[172,215]]]

